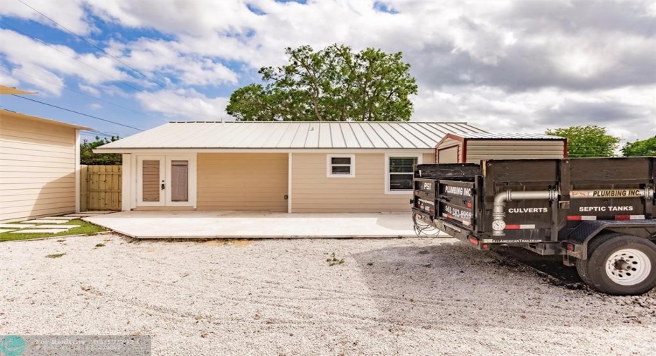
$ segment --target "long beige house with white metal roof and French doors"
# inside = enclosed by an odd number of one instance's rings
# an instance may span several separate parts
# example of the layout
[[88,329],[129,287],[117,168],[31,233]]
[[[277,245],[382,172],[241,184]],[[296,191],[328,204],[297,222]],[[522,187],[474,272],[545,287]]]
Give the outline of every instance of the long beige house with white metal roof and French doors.
[[413,164],[466,123],[174,122],[123,154],[123,210],[408,211]]

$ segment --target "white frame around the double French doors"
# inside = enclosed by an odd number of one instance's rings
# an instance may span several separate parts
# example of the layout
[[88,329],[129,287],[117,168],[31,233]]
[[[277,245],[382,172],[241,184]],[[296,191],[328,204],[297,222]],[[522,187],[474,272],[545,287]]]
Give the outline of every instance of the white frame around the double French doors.
[[[164,180],[164,190],[159,191],[159,202],[143,202],[143,161],[159,160],[160,182]],[[189,201],[171,201],[171,161],[188,161]],[[171,154],[161,156],[136,156],[136,207],[193,207],[196,209],[196,154]]]

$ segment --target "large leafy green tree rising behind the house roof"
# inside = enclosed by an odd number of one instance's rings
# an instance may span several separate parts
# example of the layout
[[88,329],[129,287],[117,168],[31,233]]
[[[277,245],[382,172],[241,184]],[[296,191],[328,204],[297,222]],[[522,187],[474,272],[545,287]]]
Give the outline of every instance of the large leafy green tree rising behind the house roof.
[[401,52],[353,53],[336,44],[287,48],[289,63],[263,67],[264,84],[233,92],[226,112],[238,121],[408,121],[417,94]]

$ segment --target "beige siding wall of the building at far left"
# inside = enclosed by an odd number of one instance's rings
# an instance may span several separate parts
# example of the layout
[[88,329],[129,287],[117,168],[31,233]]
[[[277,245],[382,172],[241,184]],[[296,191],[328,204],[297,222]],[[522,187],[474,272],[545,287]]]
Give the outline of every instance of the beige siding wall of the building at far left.
[[0,115],[0,221],[75,211],[75,129]]

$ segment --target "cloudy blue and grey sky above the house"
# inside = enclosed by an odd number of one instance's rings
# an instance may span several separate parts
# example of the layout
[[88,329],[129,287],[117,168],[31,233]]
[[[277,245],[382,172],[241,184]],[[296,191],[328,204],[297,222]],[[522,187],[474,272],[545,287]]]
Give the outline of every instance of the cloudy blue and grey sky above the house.
[[656,135],[656,1],[0,0],[0,16],[0,84],[131,128],[18,97],[4,109],[122,137],[229,120],[231,92],[285,47],[334,43],[402,51],[413,121]]

